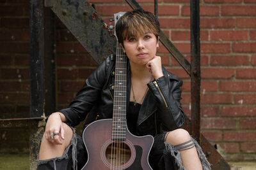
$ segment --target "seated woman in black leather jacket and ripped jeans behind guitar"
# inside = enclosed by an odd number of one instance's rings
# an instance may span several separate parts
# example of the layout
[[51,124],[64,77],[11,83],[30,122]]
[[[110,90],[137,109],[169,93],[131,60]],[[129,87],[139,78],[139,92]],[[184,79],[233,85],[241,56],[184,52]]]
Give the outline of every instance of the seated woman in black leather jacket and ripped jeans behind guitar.
[[[153,169],[211,169],[200,146],[186,130],[180,129],[184,124],[180,104],[182,81],[168,73],[161,65],[161,57],[156,56],[159,32],[157,18],[147,11],[129,11],[116,23],[116,36],[129,59],[127,127],[136,136],[154,136],[148,158]],[[86,148],[72,127],[90,111],[86,124],[92,122],[95,113],[99,114],[98,120],[112,117],[114,71],[115,56],[111,55],[86,79],[67,109],[50,115],[38,169],[84,166]]]

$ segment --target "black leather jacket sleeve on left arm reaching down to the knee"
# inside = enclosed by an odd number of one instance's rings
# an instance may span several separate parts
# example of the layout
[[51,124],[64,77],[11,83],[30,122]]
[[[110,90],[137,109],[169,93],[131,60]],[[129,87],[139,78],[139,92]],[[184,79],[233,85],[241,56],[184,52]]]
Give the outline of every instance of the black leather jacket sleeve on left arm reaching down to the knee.
[[106,82],[108,68],[109,57],[104,60],[92,74],[90,74],[86,79],[83,88],[79,90],[68,108],[60,110],[60,112],[68,119],[68,124],[71,126],[78,125],[92,109],[93,105],[99,99],[102,87]]

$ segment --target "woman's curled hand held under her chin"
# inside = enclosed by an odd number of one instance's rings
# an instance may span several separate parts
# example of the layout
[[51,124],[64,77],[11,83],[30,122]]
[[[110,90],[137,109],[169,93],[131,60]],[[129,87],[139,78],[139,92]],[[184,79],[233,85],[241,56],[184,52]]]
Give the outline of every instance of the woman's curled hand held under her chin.
[[146,64],[148,71],[154,76],[155,80],[163,76],[161,57],[155,56],[152,60],[149,60]]

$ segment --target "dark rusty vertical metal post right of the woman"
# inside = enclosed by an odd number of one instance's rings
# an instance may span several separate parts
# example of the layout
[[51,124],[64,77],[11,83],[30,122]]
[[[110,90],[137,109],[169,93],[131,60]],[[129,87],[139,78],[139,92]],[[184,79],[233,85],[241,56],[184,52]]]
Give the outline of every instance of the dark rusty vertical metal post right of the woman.
[[191,31],[191,134],[200,143],[200,5],[190,1]]

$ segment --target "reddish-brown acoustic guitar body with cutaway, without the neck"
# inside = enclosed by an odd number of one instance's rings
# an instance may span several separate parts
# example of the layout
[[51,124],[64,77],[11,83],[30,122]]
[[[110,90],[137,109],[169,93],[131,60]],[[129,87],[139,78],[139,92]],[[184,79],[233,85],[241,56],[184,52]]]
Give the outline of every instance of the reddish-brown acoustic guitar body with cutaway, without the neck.
[[148,155],[153,145],[152,136],[134,136],[126,126],[126,140],[111,139],[112,119],[97,120],[83,132],[88,160],[82,170],[92,169],[152,169]]

